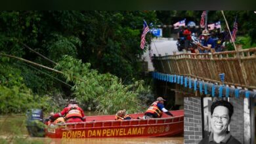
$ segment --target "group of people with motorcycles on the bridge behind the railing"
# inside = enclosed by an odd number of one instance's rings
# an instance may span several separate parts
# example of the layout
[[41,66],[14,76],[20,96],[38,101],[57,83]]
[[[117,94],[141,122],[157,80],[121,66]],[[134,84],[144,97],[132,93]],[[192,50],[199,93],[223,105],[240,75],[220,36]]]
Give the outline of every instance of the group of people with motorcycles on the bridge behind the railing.
[[[199,39],[199,42],[193,43],[192,37]],[[190,50],[192,53],[207,53],[207,52],[222,52],[226,50],[226,44],[230,43],[230,34],[228,29],[224,31],[221,29],[207,30],[207,29],[196,29],[196,27],[180,27],[178,32],[178,41],[184,41],[184,49]]]

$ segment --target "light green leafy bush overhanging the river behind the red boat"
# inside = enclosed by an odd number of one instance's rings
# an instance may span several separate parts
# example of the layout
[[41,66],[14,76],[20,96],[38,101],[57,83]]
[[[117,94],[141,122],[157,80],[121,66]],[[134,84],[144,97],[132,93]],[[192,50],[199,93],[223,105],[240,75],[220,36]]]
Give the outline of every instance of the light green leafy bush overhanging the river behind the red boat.
[[[119,109],[127,109],[129,113],[142,111],[138,98],[140,92],[146,91],[143,81],[123,85],[116,76],[110,73],[100,74],[95,69],[90,69],[89,63],[81,63],[71,56],[64,56],[55,67],[66,73],[64,77],[74,82],[75,98],[84,108],[88,101],[90,106],[95,106],[99,113],[113,114]],[[93,102],[93,103],[92,103]]]

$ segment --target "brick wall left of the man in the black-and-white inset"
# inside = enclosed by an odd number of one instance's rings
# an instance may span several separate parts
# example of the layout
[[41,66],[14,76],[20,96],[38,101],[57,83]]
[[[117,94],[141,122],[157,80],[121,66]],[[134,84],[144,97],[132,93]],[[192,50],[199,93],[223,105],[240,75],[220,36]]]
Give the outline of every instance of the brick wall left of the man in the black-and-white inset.
[[184,98],[184,143],[196,144],[202,139],[201,98]]

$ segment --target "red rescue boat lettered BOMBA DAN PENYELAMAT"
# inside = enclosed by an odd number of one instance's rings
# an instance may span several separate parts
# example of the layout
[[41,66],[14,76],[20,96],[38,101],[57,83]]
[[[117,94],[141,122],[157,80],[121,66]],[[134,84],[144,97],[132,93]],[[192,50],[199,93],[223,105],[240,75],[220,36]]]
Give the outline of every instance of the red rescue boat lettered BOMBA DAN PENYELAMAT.
[[[184,111],[170,111],[174,117],[163,113],[161,118],[146,120],[114,120],[115,115],[89,116],[87,122],[55,124],[45,129],[45,136],[51,138],[91,137],[167,137],[183,134]],[[132,114],[142,117],[144,114]]]

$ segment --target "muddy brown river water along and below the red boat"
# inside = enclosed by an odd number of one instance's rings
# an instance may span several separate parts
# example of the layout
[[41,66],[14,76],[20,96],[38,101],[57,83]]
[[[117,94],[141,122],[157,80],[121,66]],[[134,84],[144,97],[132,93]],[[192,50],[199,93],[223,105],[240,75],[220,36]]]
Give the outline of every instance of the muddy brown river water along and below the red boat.
[[[92,112],[85,112],[86,115],[95,115]],[[89,138],[89,139],[50,139],[43,137],[30,137],[26,130],[26,115],[5,115],[0,116],[0,143],[19,143],[19,141],[28,141],[28,143],[96,143],[96,144],[181,144],[184,141],[182,136],[177,137],[145,137],[145,138]]]

